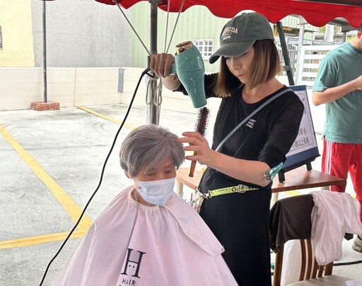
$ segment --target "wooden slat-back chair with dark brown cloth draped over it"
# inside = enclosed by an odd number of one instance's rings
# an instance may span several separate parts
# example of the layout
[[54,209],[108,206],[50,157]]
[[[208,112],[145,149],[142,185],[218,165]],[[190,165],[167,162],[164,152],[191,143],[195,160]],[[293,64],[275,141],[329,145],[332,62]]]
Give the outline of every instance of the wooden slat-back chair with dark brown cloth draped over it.
[[299,272],[299,282],[290,286],[341,286],[347,280],[353,280],[332,275],[333,262],[318,265],[315,261],[310,241],[310,212],[313,205],[313,196],[308,194],[281,199],[271,207],[271,248],[276,252],[273,286],[281,285],[284,244],[291,239],[300,241],[301,261],[300,270],[296,270]]

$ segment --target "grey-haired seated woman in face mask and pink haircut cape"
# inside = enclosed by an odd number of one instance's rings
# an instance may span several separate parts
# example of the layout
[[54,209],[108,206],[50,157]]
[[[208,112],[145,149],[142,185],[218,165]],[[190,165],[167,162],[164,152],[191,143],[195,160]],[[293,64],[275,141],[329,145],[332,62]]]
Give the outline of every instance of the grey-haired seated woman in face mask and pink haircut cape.
[[83,236],[56,285],[237,285],[223,247],[173,192],[185,152],[156,125],[127,135],[119,153],[134,185],[122,190]]

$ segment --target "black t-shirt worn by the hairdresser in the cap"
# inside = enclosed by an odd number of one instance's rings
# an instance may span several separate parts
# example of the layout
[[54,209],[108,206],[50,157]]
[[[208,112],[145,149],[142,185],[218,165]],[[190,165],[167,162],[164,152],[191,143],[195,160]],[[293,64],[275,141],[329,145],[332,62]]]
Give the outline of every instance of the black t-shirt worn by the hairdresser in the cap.
[[[214,93],[217,74],[205,75],[206,98],[216,97]],[[243,119],[269,98],[288,88],[284,86],[257,103],[245,103],[241,96],[242,85],[233,86],[231,96],[223,98],[214,125],[212,149]],[[187,94],[185,88],[177,91]],[[220,151],[238,159],[263,161],[271,168],[286,160],[286,154],[298,135],[304,105],[293,91],[288,91],[259,110],[223,144]],[[218,178],[214,178],[214,177]],[[211,177],[211,178],[210,178]],[[247,182],[207,168],[199,185],[202,192]],[[271,184],[270,184],[271,185]],[[269,185],[269,187],[270,187]]]

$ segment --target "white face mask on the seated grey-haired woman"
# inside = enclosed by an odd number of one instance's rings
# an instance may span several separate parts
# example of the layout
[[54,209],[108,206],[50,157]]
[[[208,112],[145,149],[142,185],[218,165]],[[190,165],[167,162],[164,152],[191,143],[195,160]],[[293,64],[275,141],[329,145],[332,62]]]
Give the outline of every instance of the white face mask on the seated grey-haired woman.
[[142,198],[153,205],[165,205],[173,193],[175,178],[158,181],[137,181]]

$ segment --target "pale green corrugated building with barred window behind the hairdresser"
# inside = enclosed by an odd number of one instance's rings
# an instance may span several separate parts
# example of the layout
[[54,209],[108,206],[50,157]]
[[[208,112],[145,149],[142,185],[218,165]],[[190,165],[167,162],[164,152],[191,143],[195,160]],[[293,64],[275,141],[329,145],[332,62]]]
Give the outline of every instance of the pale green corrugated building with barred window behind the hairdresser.
[[[129,8],[132,11],[133,25],[139,38],[144,45],[150,46],[150,4],[141,1]],[[204,6],[192,6],[185,12],[167,13],[158,9],[157,27],[157,47],[158,52],[175,52],[175,45],[186,40],[192,40],[197,45],[204,58],[206,71],[218,71],[218,64],[209,64],[208,59],[220,46],[219,35],[221,28],[228,22],[229,18],[219,18],[214,16],[208,8]],[[281,21],[286,38],[298,37],[300,18],[287,16]],[[176,24],[176,25],[175,25]],[[279,35],[276,25],[271,24],[276,37],[276,45],[280,45]],[[175,32],[173,33],[175,29]],[[305,24],[304,38],[313,39],[313,33],[317,28]],[[173,38],[171,39],[171,36]],[[132,65],[134,67],[146,67],[148,53],[141,44],[139,38],[132,35]],[[289,47],[288,47],[289,48]],[[290,47],[293,50],[293,47]],[[293,52],[292,52],[293,53]]]

